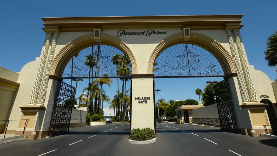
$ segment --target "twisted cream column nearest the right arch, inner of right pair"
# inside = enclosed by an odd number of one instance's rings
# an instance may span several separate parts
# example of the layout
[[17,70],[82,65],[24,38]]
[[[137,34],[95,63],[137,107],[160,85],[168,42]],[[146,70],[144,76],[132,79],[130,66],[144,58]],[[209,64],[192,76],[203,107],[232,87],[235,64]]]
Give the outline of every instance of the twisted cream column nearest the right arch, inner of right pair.
[[234,59],[235,68],[236,68],[236,71],[237,71],[238,86],[239,86],[242,102],[250,102],[247,87],[246,87],[246,84],[245,84],[244,75],[241,71],[241,66],[240,66],[240,61],[238,59],[237,50],[234,46],[234,40],[233,40],[233,37],[232,37],[231,29],[226,29],[226,33],[227,33],[227,36],[228,36],[229,45],[230,45],[230,48],[231,48],[231,54],[232,54],[232,57]]

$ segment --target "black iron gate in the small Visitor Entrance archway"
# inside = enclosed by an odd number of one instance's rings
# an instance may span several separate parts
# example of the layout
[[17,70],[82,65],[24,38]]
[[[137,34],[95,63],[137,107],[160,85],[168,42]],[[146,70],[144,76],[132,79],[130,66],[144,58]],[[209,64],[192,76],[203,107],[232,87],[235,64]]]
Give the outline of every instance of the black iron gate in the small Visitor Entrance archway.
[[268,104],[266,107],[267,115],[269,118],[270,126],[272,128],[273,135],[277,135],[277,118],[273,108],[273,104],[268,99],[262,99],[261,103]]

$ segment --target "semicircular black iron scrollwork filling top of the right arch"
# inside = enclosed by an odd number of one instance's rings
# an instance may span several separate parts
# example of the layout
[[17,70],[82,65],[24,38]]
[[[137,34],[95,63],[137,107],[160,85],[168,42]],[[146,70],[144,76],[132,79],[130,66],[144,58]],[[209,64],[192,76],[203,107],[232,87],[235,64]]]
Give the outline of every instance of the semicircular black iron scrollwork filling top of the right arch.
[[168,46],[155,61],[155,77],[224,76],[224,65],[208,47],[193,42],[178,42]]

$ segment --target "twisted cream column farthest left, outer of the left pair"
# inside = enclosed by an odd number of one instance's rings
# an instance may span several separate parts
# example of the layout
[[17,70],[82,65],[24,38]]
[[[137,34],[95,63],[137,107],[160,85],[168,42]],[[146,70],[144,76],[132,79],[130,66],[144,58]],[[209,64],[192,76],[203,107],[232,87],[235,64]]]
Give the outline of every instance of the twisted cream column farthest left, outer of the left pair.
[[40,58],[39,69],[38,69],[37,74],[36,74],[36,79],[35,79],[35,83],[34,83],[34,86],[33,86],[33,89],[32,89],[29,104],[36,104],[37,103],[37,98],[38,98],[38,95],[39,95],[39,89],[40,89],[41,81],[42,81],[42,78],[43,78],[43,72],[44,72],[46,58],[47,58],[47,54],[48,54],[48,50],[49,50],[50,40],[51,40],[51,37],[52,37],[52,31],[47,31],[46,35],[47,35],[47,38],[46,38],[46,41],[45,41],[42,56]]

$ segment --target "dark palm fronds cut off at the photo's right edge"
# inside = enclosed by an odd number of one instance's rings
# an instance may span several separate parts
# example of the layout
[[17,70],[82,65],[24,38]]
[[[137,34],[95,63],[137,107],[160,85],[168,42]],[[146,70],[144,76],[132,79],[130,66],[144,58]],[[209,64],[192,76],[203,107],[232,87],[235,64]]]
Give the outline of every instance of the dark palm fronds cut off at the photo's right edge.
[[[277,72],[277,31],[268,37],[266,48],[265,60],[267,61],[267,65],[275,67],[275,72]],[[277,81],[277,78],[275,81]]]

